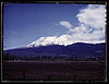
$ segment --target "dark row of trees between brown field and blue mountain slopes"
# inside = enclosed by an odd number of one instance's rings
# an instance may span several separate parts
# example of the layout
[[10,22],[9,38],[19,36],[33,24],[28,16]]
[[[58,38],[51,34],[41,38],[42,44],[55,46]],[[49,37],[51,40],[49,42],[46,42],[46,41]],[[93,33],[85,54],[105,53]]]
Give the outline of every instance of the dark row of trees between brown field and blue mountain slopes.
[[77,57],[58,57],[58,56],[16,56],[16,55],[10,55],[9,52],[3,55],[3,60],[34,60],[34,61],[57,61],[57,60],[65,60],[65,61],[101,61],[106,60],[105,57],[98,57],[98,58],[77,58]]

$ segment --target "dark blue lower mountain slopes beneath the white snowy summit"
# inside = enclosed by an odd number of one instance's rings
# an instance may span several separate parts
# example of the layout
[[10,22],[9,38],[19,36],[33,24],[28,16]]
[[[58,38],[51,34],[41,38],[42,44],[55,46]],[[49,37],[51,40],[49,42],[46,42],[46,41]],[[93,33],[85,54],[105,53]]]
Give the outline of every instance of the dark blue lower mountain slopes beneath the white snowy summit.
[[4,50],[3,53],[10,53],[15,56],[28,56],[28,57],[38,57],[38,56],[49,56],[49,57],[77,57],[77,58],[89,58],[89,57],[105,57],[106,53],[106,44],[83,44],[76,43],[72,45],[47,45],[38,47],[25,47],[17,49]]

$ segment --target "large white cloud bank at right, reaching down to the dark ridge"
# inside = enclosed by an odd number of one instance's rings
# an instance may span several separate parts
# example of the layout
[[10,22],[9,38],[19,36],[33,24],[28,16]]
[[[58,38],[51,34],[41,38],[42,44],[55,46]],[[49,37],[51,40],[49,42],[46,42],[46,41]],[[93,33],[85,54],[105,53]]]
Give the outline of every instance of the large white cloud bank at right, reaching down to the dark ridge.
[[93,44],[105,41],[105,5],[89,4],[76,17],[80,23],[71,31],[71,40]]

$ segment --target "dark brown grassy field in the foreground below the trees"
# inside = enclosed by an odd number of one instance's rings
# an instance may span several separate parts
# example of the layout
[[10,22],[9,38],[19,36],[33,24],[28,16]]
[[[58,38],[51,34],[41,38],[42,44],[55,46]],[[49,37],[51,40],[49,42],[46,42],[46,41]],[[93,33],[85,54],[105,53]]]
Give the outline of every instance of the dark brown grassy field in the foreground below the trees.
[[98,61],[4,61],[3,81],[105,81]]

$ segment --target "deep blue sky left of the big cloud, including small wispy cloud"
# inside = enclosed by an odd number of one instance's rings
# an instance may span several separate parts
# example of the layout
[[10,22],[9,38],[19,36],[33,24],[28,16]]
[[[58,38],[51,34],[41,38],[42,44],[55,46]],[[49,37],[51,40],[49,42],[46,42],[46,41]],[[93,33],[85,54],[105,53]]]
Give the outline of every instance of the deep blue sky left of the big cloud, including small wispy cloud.
[[82,22],[84,15],[80,12],[88,8],[88,4],[4,4],[3,49],[26,46],[40,37],[76,34],[76,27],[83,23],[83,26],[101,27]]

